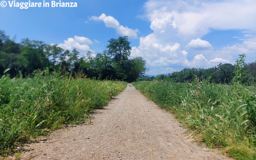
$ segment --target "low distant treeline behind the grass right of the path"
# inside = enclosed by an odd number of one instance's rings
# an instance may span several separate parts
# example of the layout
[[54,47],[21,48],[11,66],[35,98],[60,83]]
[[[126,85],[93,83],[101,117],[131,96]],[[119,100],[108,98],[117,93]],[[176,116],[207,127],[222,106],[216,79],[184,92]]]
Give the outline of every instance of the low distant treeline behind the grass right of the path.
[[[199,80],[207,79],[208,81],[224,84],[230,83],[233,81],[235,76],[242,77],[240,82],[252,84],[256,80],[256,61],[251,63],[241,64],[242,68],[239,68],[239,65],[220,63],[219,65],[212,68],[184,68],[181,71],[172,72],[169,75],[158,75],[156,76],[157,80],[170,80],[173,82],[191,82],[197,76]],[[239,72],[239,73],[238,73]]]

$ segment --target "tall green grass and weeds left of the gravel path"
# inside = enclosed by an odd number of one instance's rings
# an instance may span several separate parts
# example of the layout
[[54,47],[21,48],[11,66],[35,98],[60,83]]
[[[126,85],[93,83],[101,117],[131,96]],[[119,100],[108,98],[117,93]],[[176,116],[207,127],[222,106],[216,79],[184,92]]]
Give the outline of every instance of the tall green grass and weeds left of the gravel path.
[[0,154],[63,124],[85,121],[127,83],[40,72],[33,78],[0,79]]

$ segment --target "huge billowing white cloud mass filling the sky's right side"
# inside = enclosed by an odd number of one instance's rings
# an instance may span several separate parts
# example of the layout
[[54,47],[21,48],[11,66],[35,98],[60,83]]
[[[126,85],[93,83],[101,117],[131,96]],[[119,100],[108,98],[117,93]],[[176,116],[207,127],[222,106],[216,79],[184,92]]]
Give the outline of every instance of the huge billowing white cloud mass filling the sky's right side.
[[[150,21],[152,33],[140,37],[140,45],[132,47],[131,55],[143,57],[150,68],[157,65],[208,68],[220,62],[234,64],[238,54],[255,57],[256,19],[252,19],[255,8],[254,0],[148,0],[145,14],[138,17]],[[227,42],[215,47],[214,42],[202,40],[211,30],[241,30],[244,36],[234,35],[241,40],[239,44]],[[148,73],[156,72],[167,71]]]

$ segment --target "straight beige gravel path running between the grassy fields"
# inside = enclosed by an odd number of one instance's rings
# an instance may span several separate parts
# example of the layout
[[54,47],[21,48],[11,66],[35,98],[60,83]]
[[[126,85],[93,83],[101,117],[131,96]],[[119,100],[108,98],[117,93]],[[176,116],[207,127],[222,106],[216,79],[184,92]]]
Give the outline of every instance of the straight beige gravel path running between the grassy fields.
[[20,159],[229,159],[183,132],[170,113],[128,85],[105,109],[93,112],[92,125],[57,130],[48,140],[24,146]]

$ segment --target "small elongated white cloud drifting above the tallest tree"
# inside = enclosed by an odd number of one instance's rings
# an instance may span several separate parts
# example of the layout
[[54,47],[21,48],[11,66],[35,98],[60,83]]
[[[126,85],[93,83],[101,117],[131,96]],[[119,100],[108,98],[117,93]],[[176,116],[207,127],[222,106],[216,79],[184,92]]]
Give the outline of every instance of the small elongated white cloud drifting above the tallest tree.
[[92,16],[90,20],[101,20],[105,23],[108,28],[115,28],[116,33],[121,36],[128,36],[130,38],[137,38],[137,33],[139,30],[128,28],[127,26],[122,26],[119,22],[112,16],[106,16],[106,14],[102,13],[99,17]]

